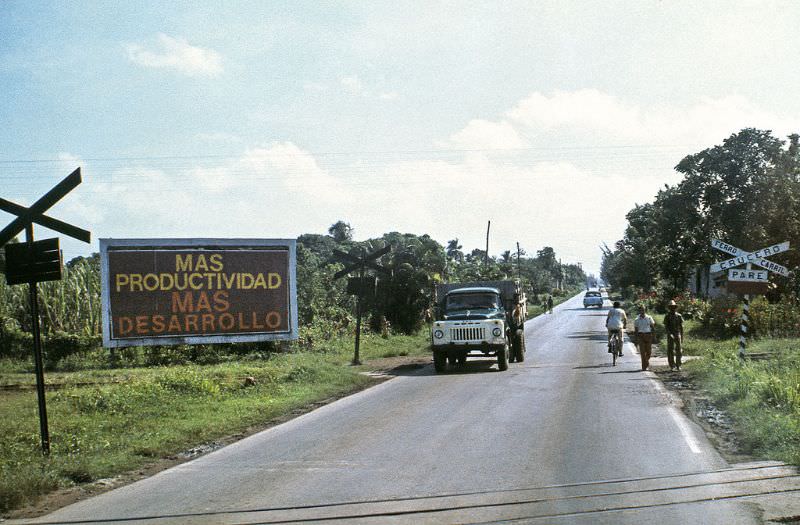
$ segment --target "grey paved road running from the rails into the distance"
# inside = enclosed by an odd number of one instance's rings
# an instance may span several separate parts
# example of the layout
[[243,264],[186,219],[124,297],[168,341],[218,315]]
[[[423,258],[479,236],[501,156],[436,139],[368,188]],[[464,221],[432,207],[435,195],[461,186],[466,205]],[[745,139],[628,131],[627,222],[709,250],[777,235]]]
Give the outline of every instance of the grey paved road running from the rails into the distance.
[[631,345],[612,368],[605,314],[576,297],[506,372],[426,367],[38,522],[757,523],[752,494],[800,489],[726,464]]

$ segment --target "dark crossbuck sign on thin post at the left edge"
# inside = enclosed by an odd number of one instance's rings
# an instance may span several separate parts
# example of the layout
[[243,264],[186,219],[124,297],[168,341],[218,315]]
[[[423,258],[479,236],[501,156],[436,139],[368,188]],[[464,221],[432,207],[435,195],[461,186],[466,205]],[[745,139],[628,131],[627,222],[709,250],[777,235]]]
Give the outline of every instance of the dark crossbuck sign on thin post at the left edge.
[[[58,249],[58,239],[34,242],[33,223],[35,222],[51,230],[69,235],[80,241],[89,242],[91,240],[90,232],[44,215],[45,211],[80,183],[81,169],[78,168],[28,208],[0,199],[0,209],[17,216],[11,224],[0,231],[0,246],[5,245],[5,270],[8,284],[28,283],[28,295],[31,301],[33,356],[36,368],[36,394],[39,401],[39,430],[42,436],[42,452],[44,454],[50,454],[50,431],[47,426],[42,340],[39,330],[39,297],[36,283],[61,279],[62,260],[61,251]],[[22,230],[25,230],[25,247],[8,244]]]

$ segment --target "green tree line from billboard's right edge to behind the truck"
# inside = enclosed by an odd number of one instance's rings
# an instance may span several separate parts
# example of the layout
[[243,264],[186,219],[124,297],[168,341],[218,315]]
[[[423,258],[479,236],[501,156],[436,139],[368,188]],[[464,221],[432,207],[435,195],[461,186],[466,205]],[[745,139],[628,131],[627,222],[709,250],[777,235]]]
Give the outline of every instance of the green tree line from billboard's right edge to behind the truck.
[[429,235],[391,232],[363,242],[353,240],[353,229],[344,221],[330,227],[328,235],[305,234],[297,239],[298,306],[301,323],[348,322],[354,299],[346,293],[345,280],[333,275],[342,269],[334,250],[353,255],[372,252],[386,245],[391,252],[381,264],[391,272],[377,276],[374,293],[366,301],[370,326],[385,330],[388,324],[402,333],[413,333],[430,319],[436,283],[519,279],[535,298],[562,288],[581,286],[586,275],[580,266],[562,265],[551,247],[527,257],[523,250],[506,250],[487,256],[485,250],[464,252],[458,239],[446,246]]

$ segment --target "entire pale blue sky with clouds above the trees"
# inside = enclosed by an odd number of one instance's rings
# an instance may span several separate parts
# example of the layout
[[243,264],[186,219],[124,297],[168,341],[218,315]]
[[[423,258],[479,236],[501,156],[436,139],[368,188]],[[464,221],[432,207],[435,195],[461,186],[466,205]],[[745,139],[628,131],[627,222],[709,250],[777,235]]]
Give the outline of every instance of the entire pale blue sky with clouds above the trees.
[[468,252],[491,221],[492,255],[597,274],[684,156],[800,132],[798,27],[794,1],[6,0],[0,197],[80,167],[66,260],[338,220]]

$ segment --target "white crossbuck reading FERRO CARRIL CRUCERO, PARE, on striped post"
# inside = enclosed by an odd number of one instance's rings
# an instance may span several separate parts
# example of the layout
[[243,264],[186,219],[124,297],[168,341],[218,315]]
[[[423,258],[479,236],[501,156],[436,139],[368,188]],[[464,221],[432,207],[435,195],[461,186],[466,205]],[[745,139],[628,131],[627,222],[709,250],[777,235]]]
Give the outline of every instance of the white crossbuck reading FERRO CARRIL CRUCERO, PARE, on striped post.
[[[733,258],[720,261],[711,265],[711,273],[728,270],[728,291],[744,294],[742,307],[742,322],[739,326],[739,357],[744,358],[747,329],[750,322],[750,294],[763,294],[768,290],[769,272],[777,273],[783,277],[789,276],[789,270],[767,259],[767,257],[789,250],[789,242],[773,244],[760,250],[748,252],[718,239],[712,239],[711,247]],[[745,265],[745,268],[736,268]],[[761,269],[753,269],[753,265]]]

